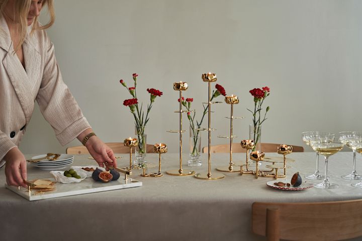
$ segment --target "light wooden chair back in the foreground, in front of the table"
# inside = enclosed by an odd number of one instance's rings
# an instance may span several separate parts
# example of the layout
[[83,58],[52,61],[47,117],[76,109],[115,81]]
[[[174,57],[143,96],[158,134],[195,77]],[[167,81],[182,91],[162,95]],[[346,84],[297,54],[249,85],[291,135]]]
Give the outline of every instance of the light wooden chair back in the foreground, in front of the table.
[[252,204],[252,231],[267,240],[343,240],[362,235],[362,199]]

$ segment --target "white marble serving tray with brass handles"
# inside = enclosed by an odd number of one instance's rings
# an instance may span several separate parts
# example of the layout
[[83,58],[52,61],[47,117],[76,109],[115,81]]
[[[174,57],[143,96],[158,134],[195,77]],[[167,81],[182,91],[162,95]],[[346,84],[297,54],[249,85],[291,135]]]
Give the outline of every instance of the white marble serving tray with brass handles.
[[[50,178],[53,180],[54,178]],[[78,183],[55,183],[56,189],[49,192],[39,192],[32,190],[29,195],[29,192],[26,188],[21,187],[20,190],[15,186],[8,186],[5,184],[5,187],[17,193],[18,195],[28,199],[29,201],[42,200],[54,197],[65,197],[73,196],[78,194],[93,193],[93,192],[104,192],[117,189],[124,189],[130,187],[140,187],[142,182],[139,182],[133,178],[128,178],[127,184],[124,180],[124,177],[121,177],[117,181],[110,181],[108,183],[96,182],[92,178],[86,178]]]

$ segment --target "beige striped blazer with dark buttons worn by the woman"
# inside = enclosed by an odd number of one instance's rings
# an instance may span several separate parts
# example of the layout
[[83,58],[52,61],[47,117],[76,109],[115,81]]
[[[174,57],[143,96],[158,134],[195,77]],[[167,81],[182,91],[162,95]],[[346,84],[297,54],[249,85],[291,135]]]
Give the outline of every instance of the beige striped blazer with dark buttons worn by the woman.
[[0,160],[19,145],[35,100],[61,145],[89,128],[62,80],[46,32],[39,30],[29,36],[23,43],[23,54],[25,69],[14,53],[6,20],[0,16]]

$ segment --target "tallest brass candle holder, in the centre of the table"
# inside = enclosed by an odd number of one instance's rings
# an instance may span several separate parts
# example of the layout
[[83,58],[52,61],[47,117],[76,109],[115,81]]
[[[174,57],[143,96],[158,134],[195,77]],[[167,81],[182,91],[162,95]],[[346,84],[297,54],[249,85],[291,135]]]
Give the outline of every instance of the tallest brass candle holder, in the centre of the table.
[[204,179],[204,180],[218,180],[218,179],[222,179],[225,177],[224,174],[221,173],[216,173],[216,174],[212,174],[211,173],[211,131],[215,131],[215,129],[211,129],[211,104],[214,103],[220,103],[220,102],[211,102],[211,83],[215,82],[217,80],[216,78],[216,74],[215,73],[206,73],[202,75],[202,80],[204,82],[208,82],[209,85],[209,99],[208,102],[206,102],[205,104],[208,104],[208,119],[209,119],[209,127],[207,129],[199,129],[200,131],[208,131],[209,135],[209,151],[208,151],[208,172],[207,173],[198,173],[195,175],[196,178],[198,179]]

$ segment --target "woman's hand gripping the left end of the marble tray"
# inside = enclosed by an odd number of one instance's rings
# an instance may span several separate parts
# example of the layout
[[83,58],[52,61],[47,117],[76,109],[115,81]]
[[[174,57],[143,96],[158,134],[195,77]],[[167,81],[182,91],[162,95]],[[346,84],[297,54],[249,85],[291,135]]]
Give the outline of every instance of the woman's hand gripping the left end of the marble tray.
[[5,175],[8,185],[27,188],[24,183],[24,180],[27,179],[27,166],[23,153],[14,147],[5,155],[4,159],[6,160]]

